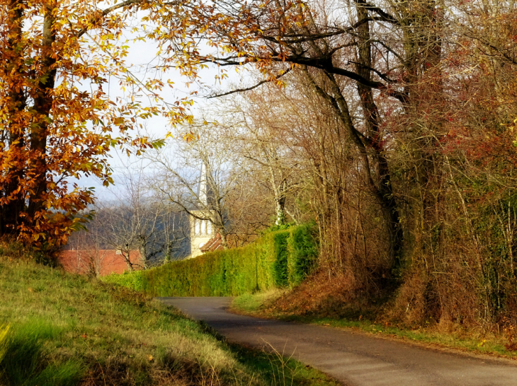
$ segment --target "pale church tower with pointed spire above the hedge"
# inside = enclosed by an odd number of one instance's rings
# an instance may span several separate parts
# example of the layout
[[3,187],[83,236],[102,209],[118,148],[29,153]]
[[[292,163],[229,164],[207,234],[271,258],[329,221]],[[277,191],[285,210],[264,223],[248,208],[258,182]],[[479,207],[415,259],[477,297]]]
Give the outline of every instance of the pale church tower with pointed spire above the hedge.
[[191,255],[190,257],[196,257],[201,255],[200,248],[203,247],[208,241],[210,241],[215,236],[215,227],[212,226],[212,223],[209,220],[200,220],[199,218],[195,218],[195,215],[198,215],[200,218],[207,218],[210,216],[210,204],[208,202],[208,185],[207,185],[207,167],[203,162],[201,165],[201,177],[199,183],[199,194],[198,194],[199,204],[195,210],[192,210],[191,213],[194,216],[191,216]]

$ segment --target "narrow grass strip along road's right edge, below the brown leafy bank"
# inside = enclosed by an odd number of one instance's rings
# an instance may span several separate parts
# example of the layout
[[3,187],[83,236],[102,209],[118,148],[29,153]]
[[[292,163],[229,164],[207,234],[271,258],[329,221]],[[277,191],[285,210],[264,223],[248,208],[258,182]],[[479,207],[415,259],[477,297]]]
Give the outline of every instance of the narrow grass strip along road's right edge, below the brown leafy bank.
[[353,312],[353,314],[358,314],[353,317],[343,317],[342,315],[332,317],[324,315],[297,315],[292,312],[283,312],[272,306],[274,300],[282,296],[283,293],[285,292],[269,291],[239,296],[234,299],[231,310],[244,315],[354,329],[378,337],[402,339],[439,348],[459,349],[461,351],[517,359],[517,351],[506,349],[506,346],[509,346],[511,342],[504,334],[498,336],[492,333],[477,332],[452,325],[446,328],[447,331],[443,331],[445,327],[439,325],[404,328],[388,323],[372,322],[358,312]]

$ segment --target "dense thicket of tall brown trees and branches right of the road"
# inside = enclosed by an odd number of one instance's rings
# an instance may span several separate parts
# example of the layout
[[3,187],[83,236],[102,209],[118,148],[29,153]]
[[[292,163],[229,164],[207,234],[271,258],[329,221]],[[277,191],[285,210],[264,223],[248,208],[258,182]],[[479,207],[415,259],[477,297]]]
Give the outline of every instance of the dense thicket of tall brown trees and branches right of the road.
[[225,103],[227,127],[289,175],[272,197],[317,219],[324,277],[394,293],[402,320],[514,319],[513,1],[232,4],[247,28],[217,30],[229,54],[206,59],[258,63],[270,86]]

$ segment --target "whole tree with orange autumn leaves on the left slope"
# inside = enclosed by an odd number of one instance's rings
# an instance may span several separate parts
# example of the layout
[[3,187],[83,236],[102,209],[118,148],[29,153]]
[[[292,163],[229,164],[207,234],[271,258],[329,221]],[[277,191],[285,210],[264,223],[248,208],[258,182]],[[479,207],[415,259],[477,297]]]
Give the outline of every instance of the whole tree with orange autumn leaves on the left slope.
[[[93,201],[93,191],[73,180],[93,175],[109,185],[110,148],[140,153],[159,146],[132,136],[142,119],[161,114],[174,124],[186,117],[188,101],[159,98],[166,81],[142,81],[125,66],[129,46],[121,36],[138,9],[150,21],[165,8],[140,0],[1,1],[0,235],[36,247],[64,244]],[[193,76],[183,59],[182,73]],[[108,81],[123,96],[111,97]],[[138,94],[156,105],[144,107]]]

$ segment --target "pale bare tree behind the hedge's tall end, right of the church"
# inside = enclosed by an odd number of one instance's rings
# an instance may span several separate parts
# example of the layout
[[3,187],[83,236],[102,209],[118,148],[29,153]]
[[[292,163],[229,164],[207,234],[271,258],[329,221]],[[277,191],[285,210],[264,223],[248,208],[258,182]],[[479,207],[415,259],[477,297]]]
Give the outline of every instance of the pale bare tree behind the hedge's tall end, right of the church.
[[[271,192],[274,223],[285,223],[287,216],[298,221],[292,199],[300,186],[300,172],[296,153],[290,148],[289,132],[283,106],[279,105],[271,88],[261,93],[249,91],[233,95],[217,103],[217,122],[227,140],[234,144],[242,161],[241,167],[254,180]],[[249,179],[248,179],[249,180]]]

